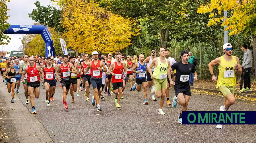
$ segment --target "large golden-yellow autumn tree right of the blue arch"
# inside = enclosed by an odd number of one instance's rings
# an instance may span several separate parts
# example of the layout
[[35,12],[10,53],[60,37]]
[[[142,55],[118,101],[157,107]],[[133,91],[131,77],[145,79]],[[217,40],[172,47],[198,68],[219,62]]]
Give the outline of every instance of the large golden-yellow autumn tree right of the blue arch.
[[139,31],[133,28],[135,21],[98,6],[97,2],[83,0],[65,1],[61,5],[67,46],[80,53],[113,53],[131,45],[131,36]]

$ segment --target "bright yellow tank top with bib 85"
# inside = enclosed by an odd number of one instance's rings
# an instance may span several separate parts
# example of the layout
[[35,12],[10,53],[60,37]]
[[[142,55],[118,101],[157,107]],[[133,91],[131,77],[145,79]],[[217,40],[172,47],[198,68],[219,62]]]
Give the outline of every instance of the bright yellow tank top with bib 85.
[[223,56],[220,57],[219,76],[216,88],[220,86],[235,86],[236,85],[236,57],[232,56],[231,61],[226,61]]

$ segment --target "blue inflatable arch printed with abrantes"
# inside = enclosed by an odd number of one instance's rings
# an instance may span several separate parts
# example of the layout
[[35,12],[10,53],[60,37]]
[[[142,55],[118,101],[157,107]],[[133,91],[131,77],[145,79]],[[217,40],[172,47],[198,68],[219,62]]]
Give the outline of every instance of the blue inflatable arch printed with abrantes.
[[45,42],[45,57],[55,57],[53,40],[48,28],[43,25],[11,25],[4,34],[41,34]]

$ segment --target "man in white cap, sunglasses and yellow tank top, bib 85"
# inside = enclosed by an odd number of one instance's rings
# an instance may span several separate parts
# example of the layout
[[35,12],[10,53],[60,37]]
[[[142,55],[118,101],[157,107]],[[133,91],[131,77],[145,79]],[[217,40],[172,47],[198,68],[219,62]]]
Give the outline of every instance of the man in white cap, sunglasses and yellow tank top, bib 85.
[[[217,78],[213,73],[212,66],[219,64],[219,76],[216,88],[222,92],[225,97],[224,106],[220,106],[220,111],[227,111],[231,105],[235,103],[234,87],[236,85],[236,72],[242,74],[239,58],[232,56],[233,48],[230,43],[223,45],[224,56],[212,60],[208,66],[212,76],[212,80]],[[222,129],[222,125],[217,125],[217,129]]]

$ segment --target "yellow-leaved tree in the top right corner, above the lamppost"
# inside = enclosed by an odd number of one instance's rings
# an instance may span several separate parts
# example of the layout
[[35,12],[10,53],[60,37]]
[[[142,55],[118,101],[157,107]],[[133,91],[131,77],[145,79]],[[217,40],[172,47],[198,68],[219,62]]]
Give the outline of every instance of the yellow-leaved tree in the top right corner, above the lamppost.
[[[214,12],[218,10],[218,12]],[[230,16],[225,19],[222,16],[223,11],[228,10]],[[222,23],[227,26],[226,31],[230,31],[229,35],[244,33],[245,36],[252,34],[253,37],[253,57],[254,67],[256,67],[256,1],[255,0],[211,0],[207,5],[201,5],[197,12],[207,13],[211,18],[208,26]],[[256,74],[256,70],[255,70]]]

